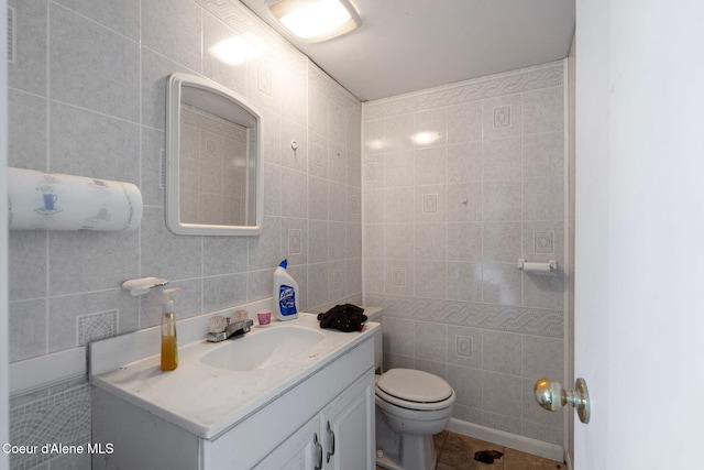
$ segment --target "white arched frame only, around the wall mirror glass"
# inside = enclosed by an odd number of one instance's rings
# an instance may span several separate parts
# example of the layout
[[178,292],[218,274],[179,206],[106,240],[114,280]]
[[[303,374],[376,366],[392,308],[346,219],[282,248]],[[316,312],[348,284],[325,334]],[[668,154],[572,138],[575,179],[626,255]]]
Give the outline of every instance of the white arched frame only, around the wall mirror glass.
[[[179,204],[179,129],[182,88],[184,86],[199,88],[222,97],[248,111],[256,121],[256,167],[254,184],[256,188],[255,225],[253,226],[216,226],[205,223],[187,223],[180,220]],[[207,111],[207,109],[206,109]],[[248,156],[249,157],[249,156]],[[191,236],[257,236],[264,222],[264,204],[262,187],[262,114],[244,97],[207,78],[189,74],[176,73],[168,77],[166,84],[166,226],[176,234]],[[249,196],[249,195],[248,195]]]

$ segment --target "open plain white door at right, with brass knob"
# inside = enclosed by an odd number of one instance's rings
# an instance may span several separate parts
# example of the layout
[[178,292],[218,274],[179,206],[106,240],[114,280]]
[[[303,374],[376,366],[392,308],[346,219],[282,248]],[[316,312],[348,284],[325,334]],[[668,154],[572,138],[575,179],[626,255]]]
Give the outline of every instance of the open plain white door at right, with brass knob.
[[576,1],[575,470],[703,468],[704,2]]

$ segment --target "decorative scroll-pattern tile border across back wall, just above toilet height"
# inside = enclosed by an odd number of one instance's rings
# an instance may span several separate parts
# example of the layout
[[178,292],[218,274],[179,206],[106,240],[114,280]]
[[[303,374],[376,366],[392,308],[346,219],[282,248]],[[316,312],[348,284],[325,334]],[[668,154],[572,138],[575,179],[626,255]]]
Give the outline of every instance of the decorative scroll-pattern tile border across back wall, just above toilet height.
[[365,295],[364,305],[383,307],[384,315],[392,317],[557,339],[563,337],[564,315],[561,310],[378,294]]

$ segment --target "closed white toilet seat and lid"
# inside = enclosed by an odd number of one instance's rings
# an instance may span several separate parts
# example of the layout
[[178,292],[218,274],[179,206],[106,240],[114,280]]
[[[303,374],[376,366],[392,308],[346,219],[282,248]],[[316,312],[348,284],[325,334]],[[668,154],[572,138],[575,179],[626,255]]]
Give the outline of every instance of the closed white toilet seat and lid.
[[392,369],[376,382],[376,395],[408,409],[442,409],[454,403],[454,391],[437,375],[414,369]]

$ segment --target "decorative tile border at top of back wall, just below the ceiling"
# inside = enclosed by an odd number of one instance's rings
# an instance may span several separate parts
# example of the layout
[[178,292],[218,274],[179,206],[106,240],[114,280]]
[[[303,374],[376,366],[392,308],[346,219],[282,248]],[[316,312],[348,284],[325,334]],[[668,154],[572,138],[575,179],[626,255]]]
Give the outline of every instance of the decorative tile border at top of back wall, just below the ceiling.
[[562,63],[522,70],[509,75],[475,78],[460,84],[438,87],[428,91],[404,95],[364,105],[364,120],[460,105],[497,96],[513,95],[562,85]]

